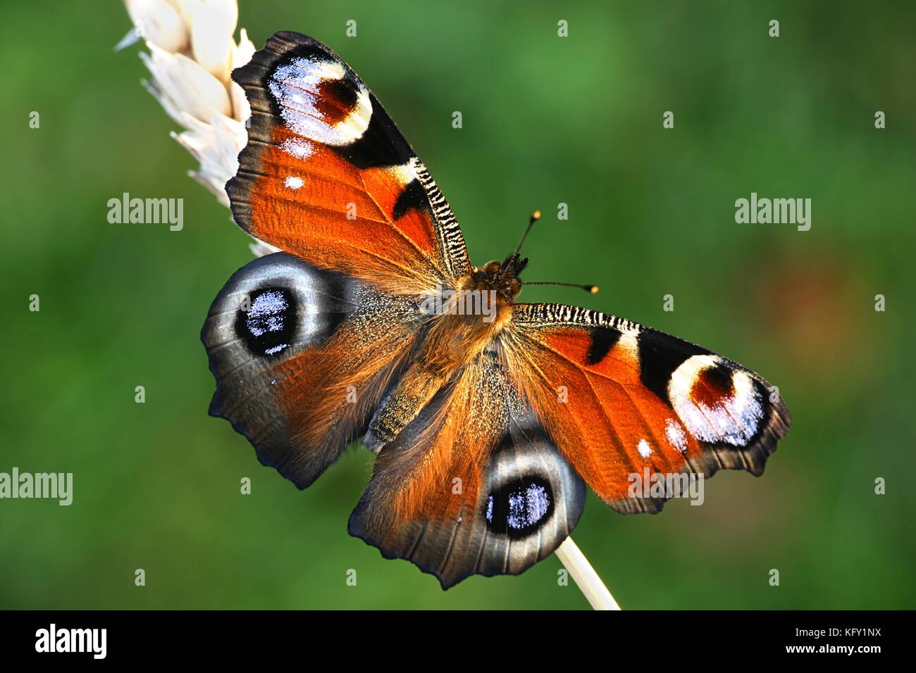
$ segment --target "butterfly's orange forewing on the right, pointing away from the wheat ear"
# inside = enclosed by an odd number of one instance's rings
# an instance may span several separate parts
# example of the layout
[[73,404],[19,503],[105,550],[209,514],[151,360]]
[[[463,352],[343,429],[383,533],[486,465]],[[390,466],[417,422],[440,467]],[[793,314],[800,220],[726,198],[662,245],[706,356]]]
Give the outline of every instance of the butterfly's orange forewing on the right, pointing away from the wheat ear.
[[692,343],[588,309],[518,304],[509,372],[605,503],[657,512],[635,475],[759,475],[791,419],[758,374]]

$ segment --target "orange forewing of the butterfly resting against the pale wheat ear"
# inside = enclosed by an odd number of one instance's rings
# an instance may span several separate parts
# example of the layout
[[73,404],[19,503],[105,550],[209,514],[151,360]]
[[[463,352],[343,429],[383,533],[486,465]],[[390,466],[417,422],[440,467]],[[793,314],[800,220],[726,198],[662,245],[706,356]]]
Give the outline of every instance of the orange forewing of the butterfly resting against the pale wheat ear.
[[469,272],[442,192],[331,49],[277,33],[233,79],[252,116],[226,192],[246,232],[391,293]]

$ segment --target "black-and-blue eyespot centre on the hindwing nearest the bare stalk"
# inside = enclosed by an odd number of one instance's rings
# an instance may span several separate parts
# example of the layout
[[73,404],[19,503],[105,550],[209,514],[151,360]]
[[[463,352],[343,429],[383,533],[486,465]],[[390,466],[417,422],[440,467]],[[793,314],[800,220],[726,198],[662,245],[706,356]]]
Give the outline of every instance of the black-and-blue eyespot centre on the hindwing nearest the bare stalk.
[[535,532],[553,512],[551,484],[539,477],[522,477],[496,489],[486,499],[486,525],[509,537]]

